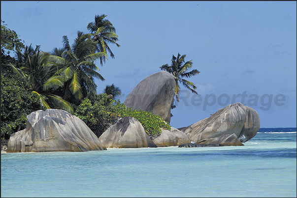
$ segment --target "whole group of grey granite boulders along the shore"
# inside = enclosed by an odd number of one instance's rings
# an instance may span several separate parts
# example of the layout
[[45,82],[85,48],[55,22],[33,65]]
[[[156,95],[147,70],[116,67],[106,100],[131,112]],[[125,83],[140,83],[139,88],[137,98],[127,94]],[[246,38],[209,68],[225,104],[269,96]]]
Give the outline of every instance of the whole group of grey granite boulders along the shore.
[[[175,81],[160,71],[141,81],[124,104],[132,110],[150,111],[170,122]],[[106,148],[239,146],[260,129],[259,114],[241,103],[218,110],[210,117],[183,128],[162,129],[151,139],[141,123],[123,117],[99,138],[78,117],[48,109],[27,116],[27,128],[11,135],[7,152],[90,151]]]

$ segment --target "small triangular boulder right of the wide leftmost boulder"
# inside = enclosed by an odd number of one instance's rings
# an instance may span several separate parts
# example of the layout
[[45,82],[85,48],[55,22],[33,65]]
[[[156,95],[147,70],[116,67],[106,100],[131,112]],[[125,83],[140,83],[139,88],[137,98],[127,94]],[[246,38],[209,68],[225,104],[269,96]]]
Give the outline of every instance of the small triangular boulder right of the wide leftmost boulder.
[[99,137],[108,148],[157,147],[141,123],[131,116],[123,117]]

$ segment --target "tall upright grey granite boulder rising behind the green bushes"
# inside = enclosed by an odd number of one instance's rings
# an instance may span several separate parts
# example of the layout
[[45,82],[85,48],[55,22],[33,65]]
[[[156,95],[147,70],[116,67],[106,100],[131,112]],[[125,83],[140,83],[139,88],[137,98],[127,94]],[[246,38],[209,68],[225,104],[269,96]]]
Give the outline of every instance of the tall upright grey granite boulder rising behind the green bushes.
[[127,96],[124,104],[132,110],[150,111],[170,123],[175,81],[171,74],[160,71],[143,79]]

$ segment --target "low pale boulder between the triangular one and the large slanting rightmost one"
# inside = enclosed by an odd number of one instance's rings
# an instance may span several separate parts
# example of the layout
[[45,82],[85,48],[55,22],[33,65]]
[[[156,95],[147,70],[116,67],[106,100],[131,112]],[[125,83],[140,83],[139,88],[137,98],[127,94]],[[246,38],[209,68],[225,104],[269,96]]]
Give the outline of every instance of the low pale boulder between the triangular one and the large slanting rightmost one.
[[171,130],[162,129],[162,133],[158,138],[155,138],[154,143],[158,147],[163,146],[178,146],[190,142],[190,138],[180,130],[171,127]]

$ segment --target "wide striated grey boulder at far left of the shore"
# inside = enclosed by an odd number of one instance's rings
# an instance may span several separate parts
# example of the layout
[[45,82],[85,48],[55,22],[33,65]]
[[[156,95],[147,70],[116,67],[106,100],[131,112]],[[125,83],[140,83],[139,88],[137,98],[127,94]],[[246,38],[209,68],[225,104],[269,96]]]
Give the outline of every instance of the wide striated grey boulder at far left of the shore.
[[36,111],[26,129],[10,136],[7,153],[106,150],[91,129],[64,110]]

